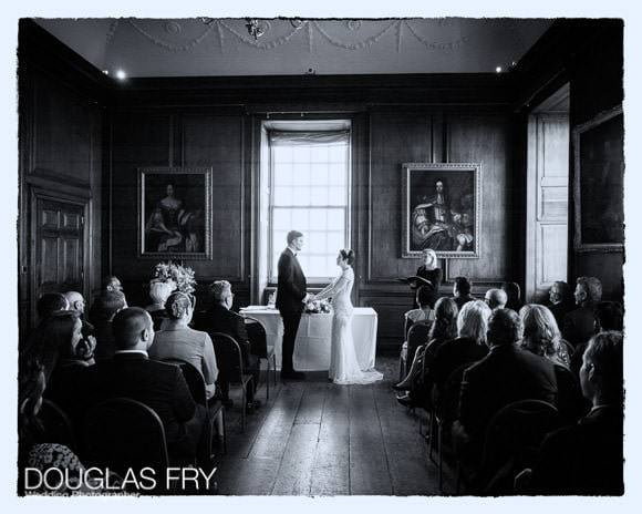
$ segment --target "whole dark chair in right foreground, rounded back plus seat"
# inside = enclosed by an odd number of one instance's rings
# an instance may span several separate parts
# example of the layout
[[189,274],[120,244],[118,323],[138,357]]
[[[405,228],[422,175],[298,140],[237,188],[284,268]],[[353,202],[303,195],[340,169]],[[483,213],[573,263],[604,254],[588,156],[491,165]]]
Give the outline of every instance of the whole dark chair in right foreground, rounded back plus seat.
[[543,438],[561,425],[558,410],[541,400],[520,400],[501,408],[488,422],[478,469],[458,463],[457,492],[465,481],[472,493],[512,494],[515,474],[530,467]]

